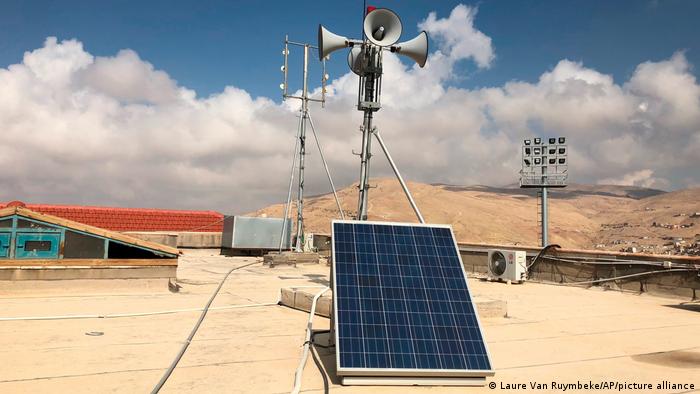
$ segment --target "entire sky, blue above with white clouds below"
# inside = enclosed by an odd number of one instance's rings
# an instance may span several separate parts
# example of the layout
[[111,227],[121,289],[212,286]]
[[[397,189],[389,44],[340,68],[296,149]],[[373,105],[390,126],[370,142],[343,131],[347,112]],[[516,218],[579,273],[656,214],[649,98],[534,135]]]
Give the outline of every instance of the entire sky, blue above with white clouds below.
[[[700,1],[373,5],[401,16],[403,40],[419,24],[431,37],[425,68],[384,57],[375,120],[408,180],[517,184],[522,140],[556,135],[572,183],[700,187]],[[362,10],[4,1],[0,200],[231,213],[283,200],[299,105],[281,103],[284,36],[315,43],[323,23],[360,38]],[[340,187],[357,182],[362,119],[345,56],[332,55],[326,106],[312,109]],[[314,149],[305,183],[326,193]],[[380,158],[371,175],[392,171]]]

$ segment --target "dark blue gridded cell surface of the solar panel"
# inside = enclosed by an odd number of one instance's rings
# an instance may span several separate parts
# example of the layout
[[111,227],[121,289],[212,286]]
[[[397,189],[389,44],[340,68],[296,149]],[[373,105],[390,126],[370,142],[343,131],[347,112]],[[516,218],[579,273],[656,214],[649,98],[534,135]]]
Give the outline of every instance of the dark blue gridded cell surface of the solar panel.
[[333,223],[341,369],[491,370],[452,231]]

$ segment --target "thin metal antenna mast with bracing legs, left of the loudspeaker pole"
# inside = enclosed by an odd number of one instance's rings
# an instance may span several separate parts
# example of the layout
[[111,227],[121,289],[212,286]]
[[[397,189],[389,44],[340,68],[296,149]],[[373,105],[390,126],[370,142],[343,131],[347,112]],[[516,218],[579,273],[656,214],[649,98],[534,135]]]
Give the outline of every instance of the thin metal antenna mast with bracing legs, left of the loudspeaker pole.
[[[303,63],[303,74],[302,74],[302,90],[301,90],[301,95],[293,95],[289,94],[288,92],[288,64],[289,64],[289,46],[300,46],[304,50],[304,63]],[[326,175],[328,176],[328,181],[331,185],[331,189],[333,190],[333,196],[335,197],[335,202],[336,205],[338,206],[338,211],[340,213],[341,219],[345,219],[345,214],[341,208],[340,205],[340,200],[338,199],[338,194],[335,190],[335,185],[333,184],[333,180],[331,178],[330,171],[328,170],[328,164],[326,163],[326,159],[323,156],[323,151],[321,149],[321,145],[318,140],[318,135],[316,134],[316,130],[314,129],[313,126],[313,121],[311,120],[311,114],[309,113],[309,102],[314,101],[314,102],[319,102],[321,103],[321,106],[323,106],[326,102],[326,82],[328,81],[328,75],[326,74],[326,62],[324,59],[321,59],[321,65],[323,69],[323,75],[321,77],[321,98],[311,98],[309,97],[309,49],[314,48],[317,49],[317,47],[311,45],[311,44],[306,44],[306,43],[299,43],[299,42],[294,42],[290,41],[288,36],[285,36],[284,39],[284,50],[282,51],[282,54],[284,55],[284,65],[282,66],[282,72],[284,73],[284,82],[280,85],[280,88],[282,89],[282,98],[284,100],[293,98],[293,99],[298,99],[301,100],[301,107],[299,109],[299,124],[298,124],[298,129],[297,129],[297,136],[296,136],[296,144],[294,148],[294,159],[292,160],[292,171],[290,175],[290,181],[289,181],[289,191],[287,194],[287,204],[285,206],[284,210],[284,218],[287,218],[287,215],[289,212],[291,212],[291,194],[292,194],[292,185],[294,183],[294,167],[298,165],[298,178],[297,178],[297,214],[296,214],[296,233],[294,235],[293,242],[290,243],[290,245],[293,245],[292,248],[296,252],[302,252],[304,251],[304,170],[306,168],[306,163],[305,163],[305,157],[306,157],[306,125],[307,122],[311,124],[311,131],[313,132],[314,140],[316,141],[316,146],[318,147],[321,160],[323,162],[323,167],[326,171]],[[297,157],[298,157],[298,162],[297,162]],[[287,226],[287,221],[283,220],[282,224],[282,235],[280,236],[280,252],[282,252],[282,237],[284,236],[286,232],[286,226]]]

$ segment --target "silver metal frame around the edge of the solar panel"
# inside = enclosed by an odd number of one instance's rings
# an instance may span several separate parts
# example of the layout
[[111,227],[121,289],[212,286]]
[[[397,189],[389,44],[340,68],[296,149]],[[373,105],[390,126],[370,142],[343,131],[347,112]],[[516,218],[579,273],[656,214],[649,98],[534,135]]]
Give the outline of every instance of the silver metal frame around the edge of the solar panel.
[[[495,370],[493,369],[493,362],[491,358],[491,353],[489,351],[488,344],[484,337],[484,332],[481,327],[481,319],[479,318],[479,311],[472,301],[472,306],[474,309],[474,316],[479,327],[479,333],[481,335],[482,342],[484,344],[484,349],[486,350],[486,358],[489,362],[491,369],[488,370],[476,370],[476,369],[409,369],[409,368],[341,368],[340,366],[340,349],[339,349],[339,330],[338,330],[338,318],[336,313],[338,311],[338,297],[337,293],[337,270],[336,270],[336,258],[335,258],[335,224],[376,224],[385,226],[407,226],[407,227],[429,227],[429,228],[446,228],[450,230],[452,236],[452,241],[454,242],[455,250],[457,251],[457,259],[459,260],[459,265],[464,275],[464,282],[467,286],[467,292],[471,296],[471,289],[469,288],[469,280],[467,279],[467,273],[464,270],[464,262],[462,261],[462,256],[459,254],[459,247],[457,246],[457,240],[454,236],[454,231],[452,226],[447,224],[423,224],[423,223],[406,223],[406,222],[380,222],[380,221],[358,221],[358,220],[333,220],[331,222],[331,256],[332,256],[332,288],[333,288],[333,323],[332,327],[334,332],[334,340],[336,344],[335,361],[336,361],[336,373],[338,376],[367,376],[367,377],[463,377],[463,378],[484,378],[486,376],[493,376]],[[483,382],[482,382],[483,383]]]

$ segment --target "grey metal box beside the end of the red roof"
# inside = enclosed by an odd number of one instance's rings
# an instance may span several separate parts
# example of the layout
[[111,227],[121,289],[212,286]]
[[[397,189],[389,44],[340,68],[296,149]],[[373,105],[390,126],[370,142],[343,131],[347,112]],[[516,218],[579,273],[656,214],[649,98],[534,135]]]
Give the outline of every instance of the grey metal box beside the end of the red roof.
[[282,249],[289,249],[292,220],[247,216],[224,216],[224,232],[221,247],[229,249],[277,249],[284,220],[287,228]]

